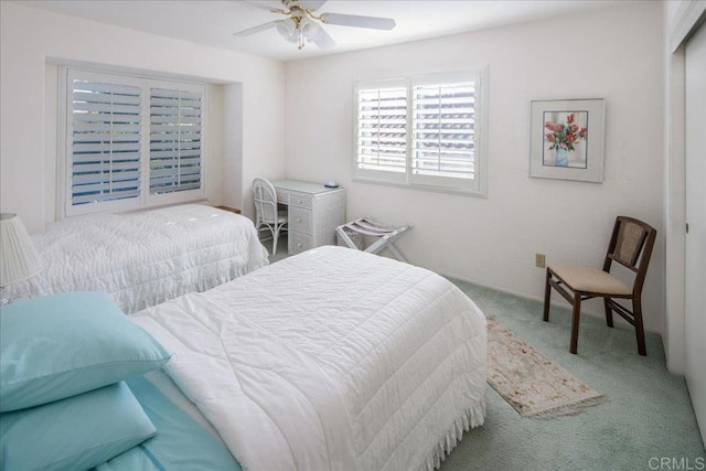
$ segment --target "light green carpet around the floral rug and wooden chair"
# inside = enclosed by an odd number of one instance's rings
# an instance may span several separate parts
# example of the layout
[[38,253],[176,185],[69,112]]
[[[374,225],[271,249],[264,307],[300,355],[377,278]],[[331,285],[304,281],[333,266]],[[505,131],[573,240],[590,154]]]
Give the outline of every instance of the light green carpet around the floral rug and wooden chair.
[[[489,386],[485,425],[463,436],[442,471],[699,469],[697,459],[705,462],[686,383],[666,371],[659,335],[646,334],[648,356],[640,356],[632,328],[609,329],[605,320],[584,315],[578,354],[571,355],[568,309],[553,306],[546,323],[538,301],[451,281],[485,315],[606,394],[608,402],[576,416],[521,418]],[[672,468],[660,468],[662,458],[673,459]],[[682,468],[674,468],[678,463]]]

